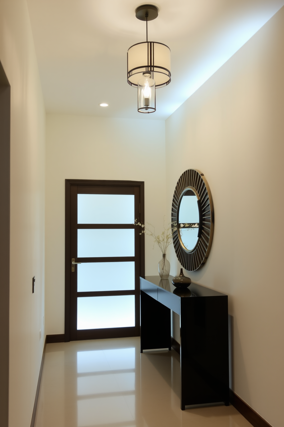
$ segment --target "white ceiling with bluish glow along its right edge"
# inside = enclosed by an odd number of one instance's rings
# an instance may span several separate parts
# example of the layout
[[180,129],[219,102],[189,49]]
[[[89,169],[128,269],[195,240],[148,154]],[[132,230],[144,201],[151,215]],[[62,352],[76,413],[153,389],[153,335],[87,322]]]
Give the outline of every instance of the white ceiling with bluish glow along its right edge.
[[[284,5],[284,0],[160,0],[148,38],[171,49],[157,111],[137,112],[126,53],[146,40],[138,0],[27,0],[47,112],[165,120]],[[109,107],[99,104],[107,102]]]

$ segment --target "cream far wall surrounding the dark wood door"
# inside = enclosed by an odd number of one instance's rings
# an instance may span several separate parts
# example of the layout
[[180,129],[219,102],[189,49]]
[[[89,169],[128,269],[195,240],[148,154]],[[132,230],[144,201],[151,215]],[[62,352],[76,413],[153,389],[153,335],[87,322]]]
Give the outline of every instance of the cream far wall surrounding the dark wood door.
[[[165,214],[165,122],[47,115],[46,333],[64,333],[65,179],[145,181],[145,221]],[[161,252],[145,239],[146,274]]]

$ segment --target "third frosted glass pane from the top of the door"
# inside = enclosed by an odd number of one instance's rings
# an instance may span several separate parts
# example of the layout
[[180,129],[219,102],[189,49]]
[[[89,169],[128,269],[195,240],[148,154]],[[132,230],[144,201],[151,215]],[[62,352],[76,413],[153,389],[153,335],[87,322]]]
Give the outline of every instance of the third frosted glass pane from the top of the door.
[[135,289],[134,261],[78,264],[78,292],[131,289]]

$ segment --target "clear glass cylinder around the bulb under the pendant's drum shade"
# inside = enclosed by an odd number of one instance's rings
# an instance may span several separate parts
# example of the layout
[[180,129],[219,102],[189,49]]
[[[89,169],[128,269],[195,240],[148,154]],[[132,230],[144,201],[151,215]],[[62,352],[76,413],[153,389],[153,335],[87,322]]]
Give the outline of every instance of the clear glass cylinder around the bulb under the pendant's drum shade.
[[150,73],[138,81],[138,111],[139,113],[154,113],[156,111],[155,80]]

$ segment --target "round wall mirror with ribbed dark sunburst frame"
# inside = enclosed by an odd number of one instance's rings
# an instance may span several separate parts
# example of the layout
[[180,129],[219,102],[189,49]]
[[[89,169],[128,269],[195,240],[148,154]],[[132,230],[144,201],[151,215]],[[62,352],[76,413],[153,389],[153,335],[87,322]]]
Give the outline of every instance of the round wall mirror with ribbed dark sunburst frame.
[[213,204],[203,173],[186,170],[178,180],[172,200],[175,253],[188,271],[204,265],[213,238]]

